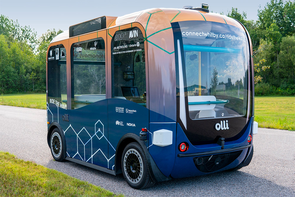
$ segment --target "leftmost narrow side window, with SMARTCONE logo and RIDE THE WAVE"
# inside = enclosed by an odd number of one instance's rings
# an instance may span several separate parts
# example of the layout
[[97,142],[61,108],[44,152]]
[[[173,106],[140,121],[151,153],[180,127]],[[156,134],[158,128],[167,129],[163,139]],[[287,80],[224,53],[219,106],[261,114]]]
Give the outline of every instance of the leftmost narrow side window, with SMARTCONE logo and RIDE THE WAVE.
[[63,45],[49,48],[47,56],[48,103],[67,109],[67,66]]

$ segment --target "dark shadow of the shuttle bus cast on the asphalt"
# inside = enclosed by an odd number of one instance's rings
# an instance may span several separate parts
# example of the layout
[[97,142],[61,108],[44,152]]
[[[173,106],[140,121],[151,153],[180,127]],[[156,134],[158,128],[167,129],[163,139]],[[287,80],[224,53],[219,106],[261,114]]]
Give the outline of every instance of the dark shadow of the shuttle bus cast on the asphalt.
[[295,196],[295,188],[243,172],[243,168],[235,172],[172,179],[136,190],[125,182],[122,174],[114,176],[70,161],[50,160],[46,167],[125,196]]

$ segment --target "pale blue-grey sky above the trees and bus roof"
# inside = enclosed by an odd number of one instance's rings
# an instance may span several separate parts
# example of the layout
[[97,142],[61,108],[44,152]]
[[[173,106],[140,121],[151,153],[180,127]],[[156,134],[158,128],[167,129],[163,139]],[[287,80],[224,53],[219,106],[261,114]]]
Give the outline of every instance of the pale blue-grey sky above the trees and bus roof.
[[[257,10],[270,0],[0,0],[0,14],[30,26],[41,36],[47,29],[68,30],[71,25],[101,16],[119,17],[149,8],[199,7],[209,5],[209,11],[227,14],[232,7],[246,12],[248,20],[257,20]],[[261,8],[260,8],[261,6]]]

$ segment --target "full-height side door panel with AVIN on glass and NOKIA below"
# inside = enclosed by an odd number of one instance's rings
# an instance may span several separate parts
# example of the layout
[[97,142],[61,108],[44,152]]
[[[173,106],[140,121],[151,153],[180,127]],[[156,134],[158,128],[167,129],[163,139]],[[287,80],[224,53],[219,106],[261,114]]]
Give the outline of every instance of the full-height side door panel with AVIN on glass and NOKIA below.
[[[139,136],[149,129],[148,66],[145,32],[128,24],[109,29],[108,46],[108,122],[109,157],[126,133]],[[143,33],[143,34],[142,34]],[[148,140],[145,141],[148,146]],[[114,159],[110,160],[114,169]]]

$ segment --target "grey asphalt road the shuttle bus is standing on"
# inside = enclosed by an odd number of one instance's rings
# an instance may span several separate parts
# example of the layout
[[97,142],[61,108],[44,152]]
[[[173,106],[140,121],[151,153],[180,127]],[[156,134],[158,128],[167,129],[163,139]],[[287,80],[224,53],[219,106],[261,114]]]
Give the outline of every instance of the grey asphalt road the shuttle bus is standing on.
[[0,105],[0,150],[125,196],[295,196],[295,132],[258,129],[252,162],[236,172],[173,179],[145,190],[70,161],[56,162],[46,141],[46,110]]

